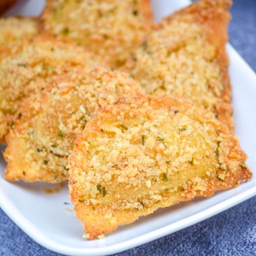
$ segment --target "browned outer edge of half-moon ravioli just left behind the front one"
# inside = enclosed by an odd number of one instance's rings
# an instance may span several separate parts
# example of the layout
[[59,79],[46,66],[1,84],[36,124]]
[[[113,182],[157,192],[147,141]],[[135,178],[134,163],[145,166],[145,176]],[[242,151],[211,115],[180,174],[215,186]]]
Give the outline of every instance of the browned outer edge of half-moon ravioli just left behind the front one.
[[[95,71],[98,71],[100,69],[105,74],[107,73],[109,77],[112,77],[113,75],[121,73],[119,71],[110,71],[109,69],[106,69],[105,67],[100,67],[100,66],[92,67],[88,69],[86,67],[78,68],[74,72],[75,73],[83,73],[83,72],[94,73]],[[24,100],[22,104],[23,116],[21,119],[16,120],[15,127],[13,127],[13,129],[9,131],[9,133],[6,135],[6,138],[5,138],[7,141],[7,148],[3,156],[7,162],[7,167],[5,168],[5,174],[4,174],[4,177],[7,181],[13,182],[18,180],[23,180],[27,182],[44,181],[46,183],[61,183],[67,180],[68,177],[60,177],[60,176],[58,176],[58,179],[56,179],[55,177],[53,177],[53,174],[51,174],[51,171],[49,170],[49,168],[40,169],[40,172],[37,172],[37,171],[35,172],[34,166],[36,166],[36,162],[30,162],[30,164],[28,165],[28,162],[23,161],[22,159],[23,155],[20,154],[20,152],[28,151],[28,149],[26,148],[26,139],[17,135],[21,135],[23,133],[24,131],[24,128],[22,127],[23,123],[30,123],[30,121],[33,122],[32,115],[29,110],[30,106],[32,106],[32,104],[34,103],[40,102],[40,109],[36,111],[36,115],[42,113],[44,110],[42,109],[41,103],[46,102],[49,99],[48,93],[51,94],[51,90],[55,88],[56,84],[65,82],[70,79],[71,78],[69,74],[58,75],[57,77],[54,77],[49,84],[45,85],[45,90],[44,92],[42,92],[42,94],[38,95],[38,99],[31,100],[30,98],[26,98],[26,100]],[[134,82],[135,83],[133,85],[138,84],[135,80]],[[134,89],[134,86],[133,86],[133,89]],[[32,123],[32,126],[33,126],[33,123]],[[24,175],[24,172],[26,172],[26,175]]]

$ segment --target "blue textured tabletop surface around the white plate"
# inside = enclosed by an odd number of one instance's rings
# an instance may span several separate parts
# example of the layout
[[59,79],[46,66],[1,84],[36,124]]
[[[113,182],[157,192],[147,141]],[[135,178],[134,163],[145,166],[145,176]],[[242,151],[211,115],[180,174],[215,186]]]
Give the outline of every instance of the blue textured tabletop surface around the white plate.
[[[178,1],[178,0],[177,0]],[[256,0],[234,0],[230,42],[256,71]],[[0,255],[51,255],[0,209]],[[119,255],[256,255],[256,197]]]

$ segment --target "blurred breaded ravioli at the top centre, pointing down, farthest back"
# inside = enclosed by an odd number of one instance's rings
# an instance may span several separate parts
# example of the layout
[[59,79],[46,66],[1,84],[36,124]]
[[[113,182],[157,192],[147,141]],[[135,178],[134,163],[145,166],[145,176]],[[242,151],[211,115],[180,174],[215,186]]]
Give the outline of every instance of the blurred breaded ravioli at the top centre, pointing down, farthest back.
[[116,68],[143,42],[152,24],[149,0],[47,0],[44,32],[71,38]]

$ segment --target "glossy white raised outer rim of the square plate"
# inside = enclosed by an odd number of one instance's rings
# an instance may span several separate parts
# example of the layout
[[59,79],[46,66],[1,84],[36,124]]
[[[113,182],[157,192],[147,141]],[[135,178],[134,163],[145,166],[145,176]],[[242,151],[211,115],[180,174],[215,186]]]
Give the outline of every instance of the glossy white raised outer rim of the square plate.
[[[253,79],[256,81],[256,73],[253,69],[246,63],[246,61],[236,52],[233,46],[228,43],[227,50],[229,55],[235,58],[244,68],[247,69],[247,75],[251,75]],[[128,249],[137,247],[139,245],[143,245],[145,243],[149,243],[154,241],[160,237],[166,236],[168,234],[172,234],[173,232],[177,232],[183,228],[187,228],[192,226],[193,224],[197,224],[207,218],[215,216],[220,212],[224,212],[228,210],[230,207],[237,205],[238,203],[242,203],[247,199],[256,195],[256,183],[252,185],[252,187],[248,189],[244,189],[240,193],[225,199],[224,201],[220,201],[205,210],[197,212],[196,214],[192,214],[191,216],[169,224],[167,226],[163,226],[162,228],[158,228],[156,230],[152,230],[146,234],[141,234],[139,236],[135,236],[133,238],[129,238],[126,241],[122,241],[120,243],[116,243],[115,245],[108,245],[105,247],[94,247],[94,248],[75,248],[69,247],[65,245],[61,245],[61,243],[52,241],[51,238],[45,236],[40,230],[35,228],[33,224],[20,214],[20,212],[16,209],[15,205],[11,201],[9,201],[8,197],[0,190],[0,207],[13,220],[15,224],[17,224],[28,236],[30,236],[36,243],[42,245],[43,247],[55,251],[56,253],[61,253],[63,255],[90,255],[90,256],[98,256],[98,255],[110,255],[113,253],[120,253],[122,251],[127,251]]]

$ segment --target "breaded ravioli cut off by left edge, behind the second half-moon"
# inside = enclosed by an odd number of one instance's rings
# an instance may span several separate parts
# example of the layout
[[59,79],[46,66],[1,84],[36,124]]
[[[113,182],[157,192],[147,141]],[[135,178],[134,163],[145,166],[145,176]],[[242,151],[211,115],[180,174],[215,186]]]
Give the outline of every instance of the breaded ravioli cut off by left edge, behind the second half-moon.
[[22,101],[44,90],[44,83],[75,67],[92,64],[83,48],[38,36],[0,48],[0,140],[20,115]]

